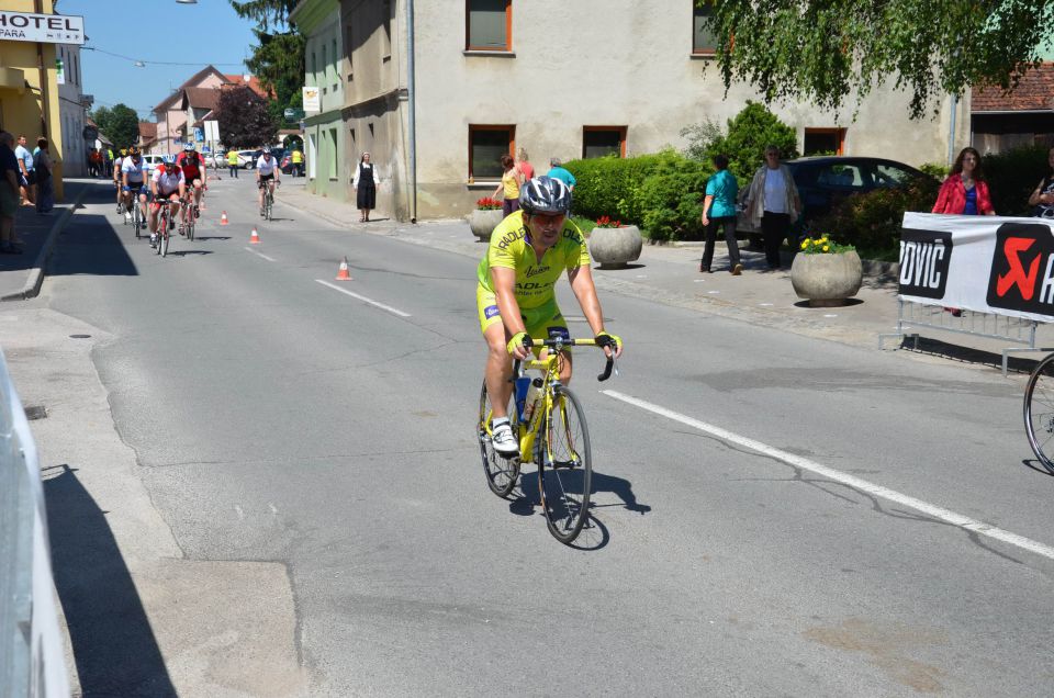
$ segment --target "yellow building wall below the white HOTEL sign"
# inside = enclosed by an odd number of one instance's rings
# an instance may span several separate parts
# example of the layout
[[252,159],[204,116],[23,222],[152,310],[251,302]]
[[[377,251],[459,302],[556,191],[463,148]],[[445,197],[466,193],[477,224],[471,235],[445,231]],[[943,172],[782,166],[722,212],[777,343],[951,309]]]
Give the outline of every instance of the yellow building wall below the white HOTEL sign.
[[[15,12],[54,14],[52,0],[3,0],[2,7]],[[44,65],[43,97],[37,46],[42,49]],[[0,128],[15,137],[24,134],[31,150],[36,147],[37,137],[47,138],[48,153],[55,162],[56,201],[64,200],[61,124],[58,85],[55,82],[55,44],[0,38]]]

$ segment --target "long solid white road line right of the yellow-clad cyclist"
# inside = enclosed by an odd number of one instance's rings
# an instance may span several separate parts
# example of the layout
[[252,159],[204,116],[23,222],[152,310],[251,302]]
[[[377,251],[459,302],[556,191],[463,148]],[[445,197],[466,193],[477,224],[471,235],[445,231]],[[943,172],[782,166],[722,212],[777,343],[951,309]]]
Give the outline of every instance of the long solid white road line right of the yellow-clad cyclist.
[[921,514],[926,514],[927,516],[931,516],[935,519],[940,519],[941,521],[951,524],[952,526],[955,526],[963,530],[974,531],[982,536],[987,536],[988,538],[994,538],[998,541],[1002,541],[1005,543],[1009,543],[1010,545],[1016,545],[1017,548],[1020,548],[1022,550],[1033,552],[1038,555],[1042,555],[1050,560],[1054,560],[1054,547],[1046,545],[1044,543],[1034,541],[1023,536],[1018,536],[1017,533],[1011,533],[1010,531],[1006,531],[1001,528],[997,528],[995,526],[991,526],[990,524],[985,524],[984,521],[972,519],[968,516],[956,514],[955,511],[951,511],[950,509],[945,509],[943,507],[939,507],[928,502],[923,502],[922,499],[917,499],[906,494],[901,494],[895,489],[889,489],[888,487],[876,485],[874,483],[867,482],[866,480],[861,480],[860,477],[849,475],[841,471],[834,470],[833,468],[828,468],[815,461],[810,461],[807,458],[801,458],[800,455],[795,455],[794,453],[781,451],[780,449],[773,448],[766,443],[762,443],[761,441],[756,441],[748,437],[739,436],[738,434],[733,434],[732,431],[728,431],[727,429],[722,429],[720,427],[714,426],[711,424],[707,424],[705,421],[699,421],[698,419],[693,419],[692,417],[673,412],[672,409],[666,409],[665,407],[654,405],[643,399],[639,399],[630,395],[625,395],[617,391],[601,391],[601,392],[607,395],[608,397],[614,397],[615,399],[619,399],[629,405],[633,405],[635,407],[640,407],[641,409],[646,409],[650,413],[660,415],[662,417],[666,417],[668,419],[680,421],[683,425],[693,427],[695,429],[698,429],[699,431],[705,431],[711,436],[715,436],[730,443],[737,443],[739,446],[751,449],[752,451],[758,451],[759,453],[763,453],[776,460],[783,461],[788,465],[794,465],[795,468],[807,470],[809,472],[816,473],[817,475],[827,477],[828,480],[832,480],[834,482],[852,487],[853,489],[859,489],[860,492],[864,492],[866,494],[874,495],[876,497],[882,497],[883,499],[887,499],[889,502],[900,504],[906,507],[910,507],[916,511],[920,511]]

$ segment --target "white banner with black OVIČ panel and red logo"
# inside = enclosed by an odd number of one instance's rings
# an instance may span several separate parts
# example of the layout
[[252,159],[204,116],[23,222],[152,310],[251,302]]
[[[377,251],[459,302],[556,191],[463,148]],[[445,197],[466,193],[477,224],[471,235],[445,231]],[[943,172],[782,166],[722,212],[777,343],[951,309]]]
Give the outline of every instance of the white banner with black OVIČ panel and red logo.
[[905,213],[899,294],[1054,322],[1054,221]]

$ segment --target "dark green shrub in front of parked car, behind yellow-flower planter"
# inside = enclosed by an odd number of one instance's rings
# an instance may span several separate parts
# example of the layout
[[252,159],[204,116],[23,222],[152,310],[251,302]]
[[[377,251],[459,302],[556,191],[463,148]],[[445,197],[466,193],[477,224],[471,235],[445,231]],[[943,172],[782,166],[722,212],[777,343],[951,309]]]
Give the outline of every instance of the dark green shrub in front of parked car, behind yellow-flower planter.
[[894,260],[900,247],[904,212],[929,212],[940,187],[940,182],[927,177],[904,188],[853,194],[814,221],[809,229],[830,233],[832,239],[853,245],[861,257]]

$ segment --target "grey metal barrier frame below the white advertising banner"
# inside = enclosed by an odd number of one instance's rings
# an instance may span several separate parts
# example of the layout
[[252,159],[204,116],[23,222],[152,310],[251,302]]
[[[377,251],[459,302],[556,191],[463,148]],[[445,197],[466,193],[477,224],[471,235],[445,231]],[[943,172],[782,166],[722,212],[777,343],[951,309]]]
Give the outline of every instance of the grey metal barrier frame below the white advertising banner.
[[897,331],[878,335],[879,349],[884,348],[886,338],[910,337],[915,340],[913,348],[918,350],[919,334],[905,331],[905,326],[907,326],[908,330],[915,327],[927,327],[946,333],[958,333],[961,335],[1001,339],[1018,345],[1027,345],[1025,347],[1003,347],[1003,376],[1007,375],[1007,362],[1009,361],[1010,353],[1052,351],[1052,349],[1035,346],[1035,330],[1040,324],[1033,319],[996,315],[994,313],[977,313],[966,309],[958,311],[956,315],[940,305],[916,303],[913,301],[905,301],[904,299],[897,299]]

